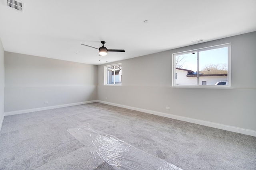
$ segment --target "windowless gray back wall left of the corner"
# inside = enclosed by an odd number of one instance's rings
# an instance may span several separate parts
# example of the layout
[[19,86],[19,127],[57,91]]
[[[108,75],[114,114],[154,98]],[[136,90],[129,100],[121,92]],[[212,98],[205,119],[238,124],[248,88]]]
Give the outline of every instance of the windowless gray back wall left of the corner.
[[5,112],[97,100],[96,65],[10,52],[4,63]]

